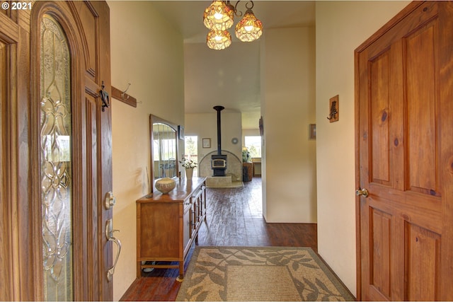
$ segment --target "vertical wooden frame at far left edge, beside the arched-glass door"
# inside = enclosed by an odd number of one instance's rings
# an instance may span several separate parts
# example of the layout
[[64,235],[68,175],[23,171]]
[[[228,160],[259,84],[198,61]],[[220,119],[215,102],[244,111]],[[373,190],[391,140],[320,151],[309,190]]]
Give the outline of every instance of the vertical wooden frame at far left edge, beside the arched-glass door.
[[[6,300],[33,300],[35,281],[30,274],[29,252],[33,209],[30,201],[30,32],[29,11],[0,14],[0,39],[6,44],[6,92],[1,104],[1,236],[3,238],[0,294]],[[21,18],[25,16],[25,18]],[[20,71],[25,71],[18,76]],[[41,247],[42,248],[42,247]],[[41,250],[40,248],[40,250]],[[0,286],[1,287],[1,286]]]

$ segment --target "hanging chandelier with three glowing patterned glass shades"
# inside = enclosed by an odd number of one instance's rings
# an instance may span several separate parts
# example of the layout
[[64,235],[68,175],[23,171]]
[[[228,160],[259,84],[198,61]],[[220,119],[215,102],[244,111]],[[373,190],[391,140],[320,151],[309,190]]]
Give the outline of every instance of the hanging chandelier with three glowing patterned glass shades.
[[[216,0],[205,9],[203,23],[210,30],[207,33],[206,42],[212,50],[224,50],[231,45],[231,35],[227,29],[233,26],[235,15],[242,16],[242,12],[237,10],[239,2],[232,6],[229,1]],[[250,7],[249,4],[251,4]],[[252,42],[263,34],[263,23],[253,14],[253,1],[247,1],[246,8],[246,13],[236,24],[234,33],[242,42]]]

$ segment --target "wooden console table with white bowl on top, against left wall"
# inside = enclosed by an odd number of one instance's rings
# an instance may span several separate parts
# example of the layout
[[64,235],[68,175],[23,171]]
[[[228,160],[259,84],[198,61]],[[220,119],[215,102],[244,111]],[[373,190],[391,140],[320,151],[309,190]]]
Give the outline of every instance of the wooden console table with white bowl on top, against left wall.
[[[178,281],[182,281],[185,257],[193,241],[198,243],[198,230],[206,220],[206,178],[176,180],[170,193],[156,191],[136,203],[137,278],[143,268],[179,268]],[[142,261],[154,263],[142,265]]]

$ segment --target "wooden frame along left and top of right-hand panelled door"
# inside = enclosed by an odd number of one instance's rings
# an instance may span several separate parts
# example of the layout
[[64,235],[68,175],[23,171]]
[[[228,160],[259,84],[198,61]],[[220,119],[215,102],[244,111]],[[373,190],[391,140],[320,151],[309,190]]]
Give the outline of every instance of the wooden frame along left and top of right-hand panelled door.
[[[390,28],[393,28],[396,23],[400,22],[403,18],[406,18],[419,6],[422,6],[424,1],[413,1],[408,6],[403,8],[402,11],[396,14],[389,22],[387,22],[382,28],[377,30],[371,37],[363,42],[359,47],[354,50],[354,86],[355,86],[355,187],[362,188],[360,182],[360,70],[359,70],[359,54],[365,50],[374,41],[382,37]],[[360,196],[355,197],[355,244],[356,244],[356,299],[362,301],[362,243],[360,239]]]

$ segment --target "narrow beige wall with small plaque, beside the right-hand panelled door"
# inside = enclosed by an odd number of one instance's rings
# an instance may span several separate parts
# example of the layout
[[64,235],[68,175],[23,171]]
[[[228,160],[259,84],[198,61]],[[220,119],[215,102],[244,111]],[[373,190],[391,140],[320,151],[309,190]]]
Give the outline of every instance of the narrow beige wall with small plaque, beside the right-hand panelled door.
[[[319,254],[356,293],[354,50],[408,1],[316,1]],[[328,101],[340,96],[340,120]]]

